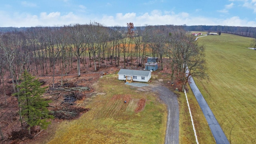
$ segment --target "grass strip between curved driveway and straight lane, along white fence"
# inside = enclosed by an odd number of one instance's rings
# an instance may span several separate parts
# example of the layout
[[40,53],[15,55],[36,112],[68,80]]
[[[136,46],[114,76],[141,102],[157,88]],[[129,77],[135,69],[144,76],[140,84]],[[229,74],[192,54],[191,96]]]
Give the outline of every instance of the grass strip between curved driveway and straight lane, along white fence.
[[[168,82],[170,82],[170,74],[158,73],[158,78],[163,79],[164,84],[168,84]],[[170,86],[170,84],[168,84],[167,86]],[[172,89],[175,89],[175,86]],[[194,131],[193,131],[192,122],[190,119],[190,114],[189,114],[185,94],[183,92],[176,92],[176,91],[174,92],[178,96],[178,102],[180,107],[180,112],[179,112],[180,142],[179,143],[180,144],[196,144],[196,138],[194,136]],[[193,120],[194,120],[194,125],[196,128],[198,142],[200,144],[215,144],[216,142],[214,140],[214,137],[212,136],[208,123],[191,89],[189,90],[189,92],[187,92],[187,96],[188,96],[188,101],[190,104],[190,109],[191,109]]]

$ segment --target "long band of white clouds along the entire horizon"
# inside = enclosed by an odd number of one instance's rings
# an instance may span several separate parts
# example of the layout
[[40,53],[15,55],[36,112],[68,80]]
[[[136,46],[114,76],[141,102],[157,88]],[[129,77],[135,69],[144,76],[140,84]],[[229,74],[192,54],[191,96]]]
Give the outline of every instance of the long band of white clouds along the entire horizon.
[[238,16],[227,19],[206,18],[202,16],[193,16],[186,12],[161,12],[153,10],[140,15],[136,13],[117,13],[114,16],[85,16],[76,15],[73,12],[63,14],[61,12],[41,12],[39,15],[31,15],[27,13],[10,14],[0,11],[0,27],[31,27],[31,26],[62,26],[68,24],[88,24],[90,21],[99,22],[105,26],[126,26],[127,22],[133,22],[135,26],[144,25],[225,25],[225,26],[252,26],[256,27],[256,21],[241,19]]

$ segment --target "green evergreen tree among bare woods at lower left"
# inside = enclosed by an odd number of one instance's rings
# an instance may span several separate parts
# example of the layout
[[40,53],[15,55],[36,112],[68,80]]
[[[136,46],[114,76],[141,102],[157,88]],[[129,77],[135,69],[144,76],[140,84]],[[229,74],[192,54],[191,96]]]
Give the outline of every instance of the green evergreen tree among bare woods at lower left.
[[22,82],[17,88],[20,90],[14,96],[20,97],[21,115],[28,124],[28,133],[30,134],[32,126],[40,126],[40,128],[46,129],[50,124],[49,118],[53,118],[52,115],[49,115],[49,110],[47,109],[50,101],[41,98],[46,87],[41,88],[39,80],[24,71]]

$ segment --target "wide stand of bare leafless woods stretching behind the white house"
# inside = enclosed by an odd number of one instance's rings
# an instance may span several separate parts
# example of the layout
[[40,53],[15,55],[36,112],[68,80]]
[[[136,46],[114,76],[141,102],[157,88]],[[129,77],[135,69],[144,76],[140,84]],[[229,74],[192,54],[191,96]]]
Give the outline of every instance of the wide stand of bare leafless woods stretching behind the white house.
[[[0,84],[4,82],[4,76],[11,78],[16,92],[19,77],[28,70],[42,76],[51,72],[54,88],[56,72],[64,76],[76,68],[77,76],[80,76],[81,66],[94,67],[97,71],[106,63],[124,68],[131,64],[143,67],[148,56],[159,57],[161,69],[164,67],[162,59],[166,57],[169,66],[174,68],[180,62],[175,58],[187,58],[188,53],[183,53],[182,48],[192,52],[197,50],[191,49],[194,46],[200,47],[183,27],[134,27],[131,22],[127,27],[106,27],[91,22],[4,32],[0,34]],[[180,50],[180,55],[184,56],[174,57]],[[199,51],[196,54],[203,53]],[[182,63],[172,71],[186,65],[186,62]],[[180,74],[179,70],[177,72]]]

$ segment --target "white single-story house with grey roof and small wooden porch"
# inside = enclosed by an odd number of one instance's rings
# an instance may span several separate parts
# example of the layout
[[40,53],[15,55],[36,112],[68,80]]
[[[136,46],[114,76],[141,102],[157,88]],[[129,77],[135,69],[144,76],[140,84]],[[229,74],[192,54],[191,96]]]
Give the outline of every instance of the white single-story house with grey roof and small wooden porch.
[[118,72],[118,80],[126,80],[126,82],[148,82],[151,78],[151,72],[151,70],[120,69]]

